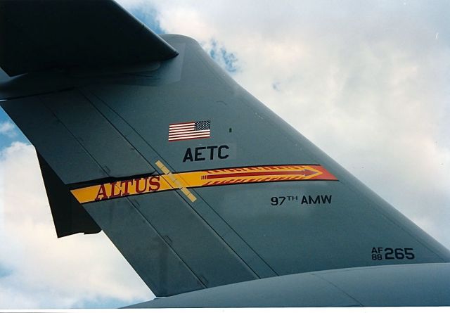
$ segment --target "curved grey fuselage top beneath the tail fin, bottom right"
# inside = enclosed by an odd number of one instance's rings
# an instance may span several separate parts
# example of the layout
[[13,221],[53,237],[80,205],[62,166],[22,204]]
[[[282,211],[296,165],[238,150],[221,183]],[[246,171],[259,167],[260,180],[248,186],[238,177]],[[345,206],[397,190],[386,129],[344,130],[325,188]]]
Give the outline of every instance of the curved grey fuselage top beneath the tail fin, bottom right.
[[234,283],[130,308],[448,306],[449,275],[449,263],[335,269]]

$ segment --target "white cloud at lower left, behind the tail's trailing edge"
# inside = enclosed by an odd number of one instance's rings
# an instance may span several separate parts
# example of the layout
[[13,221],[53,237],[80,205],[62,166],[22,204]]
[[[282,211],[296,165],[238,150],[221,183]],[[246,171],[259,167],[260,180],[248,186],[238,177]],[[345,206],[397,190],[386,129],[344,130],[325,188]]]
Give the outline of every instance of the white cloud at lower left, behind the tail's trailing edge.
[[56,238],[34,148],[1,151],[0,308],[130,305],[150,290],[103,234]]

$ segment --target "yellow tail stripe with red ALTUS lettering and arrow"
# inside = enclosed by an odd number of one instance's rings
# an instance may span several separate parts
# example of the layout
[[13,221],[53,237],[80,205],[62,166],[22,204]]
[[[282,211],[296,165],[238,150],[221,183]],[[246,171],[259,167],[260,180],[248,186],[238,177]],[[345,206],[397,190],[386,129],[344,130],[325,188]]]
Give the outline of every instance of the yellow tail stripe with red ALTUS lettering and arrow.
[[143,193],[180,189],[189,200],[194,202],[197,198],[188,188],[263,181],[338,180],[320,165],[235,167],[177,174],[170,172],[160,160],[155,162],[155,165],[164,174],[72,189],[71,193],[79,203],[89,203]]

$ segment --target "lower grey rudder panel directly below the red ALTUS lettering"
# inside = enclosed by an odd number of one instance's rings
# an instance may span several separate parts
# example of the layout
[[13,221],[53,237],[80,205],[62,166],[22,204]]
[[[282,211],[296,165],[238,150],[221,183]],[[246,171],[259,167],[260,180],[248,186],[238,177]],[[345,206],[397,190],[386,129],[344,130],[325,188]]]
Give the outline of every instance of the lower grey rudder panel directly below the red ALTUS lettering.
[[84,207],[153,293],[174,295],[205,288],[129,199]]

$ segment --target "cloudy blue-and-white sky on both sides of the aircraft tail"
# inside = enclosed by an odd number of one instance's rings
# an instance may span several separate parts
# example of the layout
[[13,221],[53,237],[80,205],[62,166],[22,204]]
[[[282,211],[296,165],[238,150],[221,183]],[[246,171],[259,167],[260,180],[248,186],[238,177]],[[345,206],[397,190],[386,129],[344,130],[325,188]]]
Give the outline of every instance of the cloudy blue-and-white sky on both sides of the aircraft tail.
[[[449,1],[119,2],[157,33],[198,40],[251,94],[450,248]],[[103,233],[56,238],[34,148],[1,110],[0,172],[0,309],[153,298]]]

